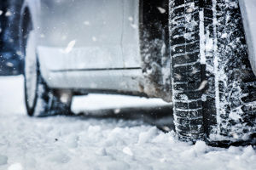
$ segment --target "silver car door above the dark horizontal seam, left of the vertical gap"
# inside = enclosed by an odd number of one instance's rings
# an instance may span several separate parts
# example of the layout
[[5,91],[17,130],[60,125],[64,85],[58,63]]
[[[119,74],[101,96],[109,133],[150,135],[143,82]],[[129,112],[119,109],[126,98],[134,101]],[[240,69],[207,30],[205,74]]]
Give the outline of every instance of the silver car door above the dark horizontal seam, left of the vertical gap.
[[123,68],[123,0],[42,0],[40,59],[51,71]]

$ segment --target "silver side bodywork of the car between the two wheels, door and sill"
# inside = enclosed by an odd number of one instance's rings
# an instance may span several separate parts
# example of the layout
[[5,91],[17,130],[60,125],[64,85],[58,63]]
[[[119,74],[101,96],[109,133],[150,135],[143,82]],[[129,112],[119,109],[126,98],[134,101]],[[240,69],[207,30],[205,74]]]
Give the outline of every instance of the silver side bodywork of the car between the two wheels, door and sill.
[[[139,1],[28,0],[50,88],[143,93]],[[71,45],[73,43],[73,45]]]

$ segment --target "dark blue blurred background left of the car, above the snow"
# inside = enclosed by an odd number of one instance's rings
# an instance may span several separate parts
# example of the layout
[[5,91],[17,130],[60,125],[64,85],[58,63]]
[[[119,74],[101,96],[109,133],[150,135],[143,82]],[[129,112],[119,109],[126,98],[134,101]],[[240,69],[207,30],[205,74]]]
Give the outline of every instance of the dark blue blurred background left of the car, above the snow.
[[0,3],[0,76],[23,73],[24,56],[20,45],[22,0],[4,0]]

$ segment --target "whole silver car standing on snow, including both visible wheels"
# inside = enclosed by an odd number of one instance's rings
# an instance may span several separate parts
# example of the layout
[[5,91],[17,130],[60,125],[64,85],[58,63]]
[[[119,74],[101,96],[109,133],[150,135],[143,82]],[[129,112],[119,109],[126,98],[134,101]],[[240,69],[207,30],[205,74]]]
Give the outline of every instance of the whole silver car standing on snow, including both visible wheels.
[[172,102],[183,141],[255,139],[237,0],[28,0],[21,16],[29,116],[70,114],[73,95],[129,94]]

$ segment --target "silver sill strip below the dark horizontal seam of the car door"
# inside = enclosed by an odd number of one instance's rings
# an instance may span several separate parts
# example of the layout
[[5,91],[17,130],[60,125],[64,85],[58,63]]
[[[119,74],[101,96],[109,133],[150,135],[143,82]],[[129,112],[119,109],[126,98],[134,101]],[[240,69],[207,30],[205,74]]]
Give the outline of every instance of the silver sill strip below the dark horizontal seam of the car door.
[[47,79],[50,87],[62,89],[143,94],[143,74],[140,69],[50,71]]

